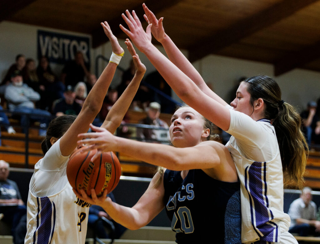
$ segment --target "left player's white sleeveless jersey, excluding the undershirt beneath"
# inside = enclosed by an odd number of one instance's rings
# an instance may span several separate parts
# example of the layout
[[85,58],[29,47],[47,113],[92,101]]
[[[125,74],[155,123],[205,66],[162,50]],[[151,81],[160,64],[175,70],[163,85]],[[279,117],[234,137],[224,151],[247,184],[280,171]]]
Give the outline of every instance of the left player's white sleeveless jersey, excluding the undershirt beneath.
[[76,197],[70,184],[52,196],[28,195],[25,244],[85,243],[90,204]]

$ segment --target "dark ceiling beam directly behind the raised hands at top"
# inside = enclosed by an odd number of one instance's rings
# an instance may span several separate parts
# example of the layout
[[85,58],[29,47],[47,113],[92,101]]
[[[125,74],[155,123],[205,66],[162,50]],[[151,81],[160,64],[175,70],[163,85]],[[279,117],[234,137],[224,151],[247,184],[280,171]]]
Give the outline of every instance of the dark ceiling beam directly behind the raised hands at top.
[[[154,12],[154,14],[161,12],[165,9],[168,9],[176,4],[178,4],[181,0],[161,0],[161,1],[154,1],[154,0],[147,0],[144,3],[147,7]],[[144,10],[142,8],[142,3],[133,7],[134,10],[139,17],[141,22],[145,22],[143,18]],[[131,10],[130,10],[131,11]],[[121,15],[113,20],[109,20],[108,24],[115,36],[122,34],[123,31],[120,29],[119,24],[126,26],[123,18]],[[99,45],[108,42],[108,38],[105,36],[103,29],[99,28],[94,30],[92,33],[92,47],[96,48]]]

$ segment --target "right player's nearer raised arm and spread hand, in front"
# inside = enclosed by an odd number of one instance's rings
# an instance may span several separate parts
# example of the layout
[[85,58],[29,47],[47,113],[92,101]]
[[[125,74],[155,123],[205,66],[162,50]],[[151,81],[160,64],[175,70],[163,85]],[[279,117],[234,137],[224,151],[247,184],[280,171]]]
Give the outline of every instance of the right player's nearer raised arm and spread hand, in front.
[[151,43],[151,26],[146,32],[135,12],[132,15],[127,10],[127,16],[122,14],[130,30],[120,25],[120,28],[130,37],[136,47],[143,52],[154,67],[159,71],[172,90],[189,106],[212,121],[222,130],[228,130],[230,125],[230,112],[220,102],[206,95],[199,87],[169,59],[167,59]]

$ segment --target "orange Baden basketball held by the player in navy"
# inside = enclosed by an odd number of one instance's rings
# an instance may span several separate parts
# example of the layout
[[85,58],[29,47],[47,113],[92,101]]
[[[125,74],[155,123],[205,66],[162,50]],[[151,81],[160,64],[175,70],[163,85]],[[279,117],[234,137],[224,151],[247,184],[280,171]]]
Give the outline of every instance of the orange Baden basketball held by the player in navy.
[[121,166],[113,152],[100,153],[100,157],[91,162],[97,149],[81,152],[84,147],[72,153],[67,165],[67,177],[70,185],[78,192],[84,189],[88,196],[94,188],[97,196],[101,196],[107,189],[112,192],[118,185]]

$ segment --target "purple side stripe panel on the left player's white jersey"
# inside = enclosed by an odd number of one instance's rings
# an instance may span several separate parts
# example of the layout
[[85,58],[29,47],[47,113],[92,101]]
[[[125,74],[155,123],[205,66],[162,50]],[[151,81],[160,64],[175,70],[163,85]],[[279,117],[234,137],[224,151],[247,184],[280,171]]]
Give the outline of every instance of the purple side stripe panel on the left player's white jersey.
[[[37,201],[39,202],[38,199],[39,198],[37,198]],[[40,214],[41,216],[41,222],[39,227],[36,230],[38,232],[37,243],[46,244],[46,243],[49,243],[50,234],[51,234],[52,203],[48,197],[41,197],[40,201],[41,201],[41,210],[40,212],[38,211],[38,214]]]

